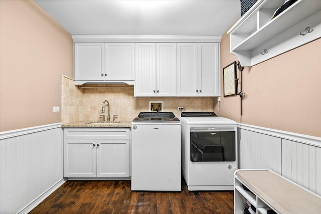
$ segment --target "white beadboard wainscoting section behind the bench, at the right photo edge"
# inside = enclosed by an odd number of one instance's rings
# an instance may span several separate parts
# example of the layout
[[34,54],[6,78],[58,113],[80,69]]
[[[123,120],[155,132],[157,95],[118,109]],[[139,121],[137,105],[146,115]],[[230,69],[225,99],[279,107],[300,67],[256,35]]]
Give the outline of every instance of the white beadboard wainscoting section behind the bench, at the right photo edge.
[[282,176],[321,195],[321,148],[282,139]]

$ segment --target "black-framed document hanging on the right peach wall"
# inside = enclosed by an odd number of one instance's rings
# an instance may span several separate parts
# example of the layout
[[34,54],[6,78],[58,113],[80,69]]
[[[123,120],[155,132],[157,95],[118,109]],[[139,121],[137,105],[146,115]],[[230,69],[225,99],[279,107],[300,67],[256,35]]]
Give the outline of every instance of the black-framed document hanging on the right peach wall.
[[223,68],[224,97],[236,95],[236,61]]

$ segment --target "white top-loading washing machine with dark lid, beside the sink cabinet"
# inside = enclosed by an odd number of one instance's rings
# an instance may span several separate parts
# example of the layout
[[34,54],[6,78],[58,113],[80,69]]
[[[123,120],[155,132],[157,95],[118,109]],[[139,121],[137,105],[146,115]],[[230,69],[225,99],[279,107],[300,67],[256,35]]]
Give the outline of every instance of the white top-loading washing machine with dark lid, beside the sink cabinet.
[[140,112],[131,125],[131,190],[181,191],[181,122]]

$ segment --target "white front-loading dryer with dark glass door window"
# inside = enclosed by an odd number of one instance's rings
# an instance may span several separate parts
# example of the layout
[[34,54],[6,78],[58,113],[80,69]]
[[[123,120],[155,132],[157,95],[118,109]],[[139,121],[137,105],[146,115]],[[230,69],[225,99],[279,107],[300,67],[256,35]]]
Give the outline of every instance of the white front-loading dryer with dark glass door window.
[[233,190],[237,123],[214,112],[182,112],[182,174],[188,189]]

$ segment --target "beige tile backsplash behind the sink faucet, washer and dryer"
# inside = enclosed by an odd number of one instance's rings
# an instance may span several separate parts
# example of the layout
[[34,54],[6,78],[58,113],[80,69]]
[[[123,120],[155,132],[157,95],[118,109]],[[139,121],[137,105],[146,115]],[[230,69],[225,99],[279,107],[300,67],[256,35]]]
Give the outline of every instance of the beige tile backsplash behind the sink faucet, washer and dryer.
[[[118,121],[131,121],[139,112],[148,111],[149,101],[164,101],[164,111],[174,112],[179,117],[177,107],[185,111],[213,111],[214,97],[134,97],[134,88],[127,84],[82,85],[78,88],[72,78],[62,76],[62,114],[63,124],[80,121],[102,120],[102,103],[108,100],[110,118],[118,115]],[[107,118],[107,103],[105,113]]]

